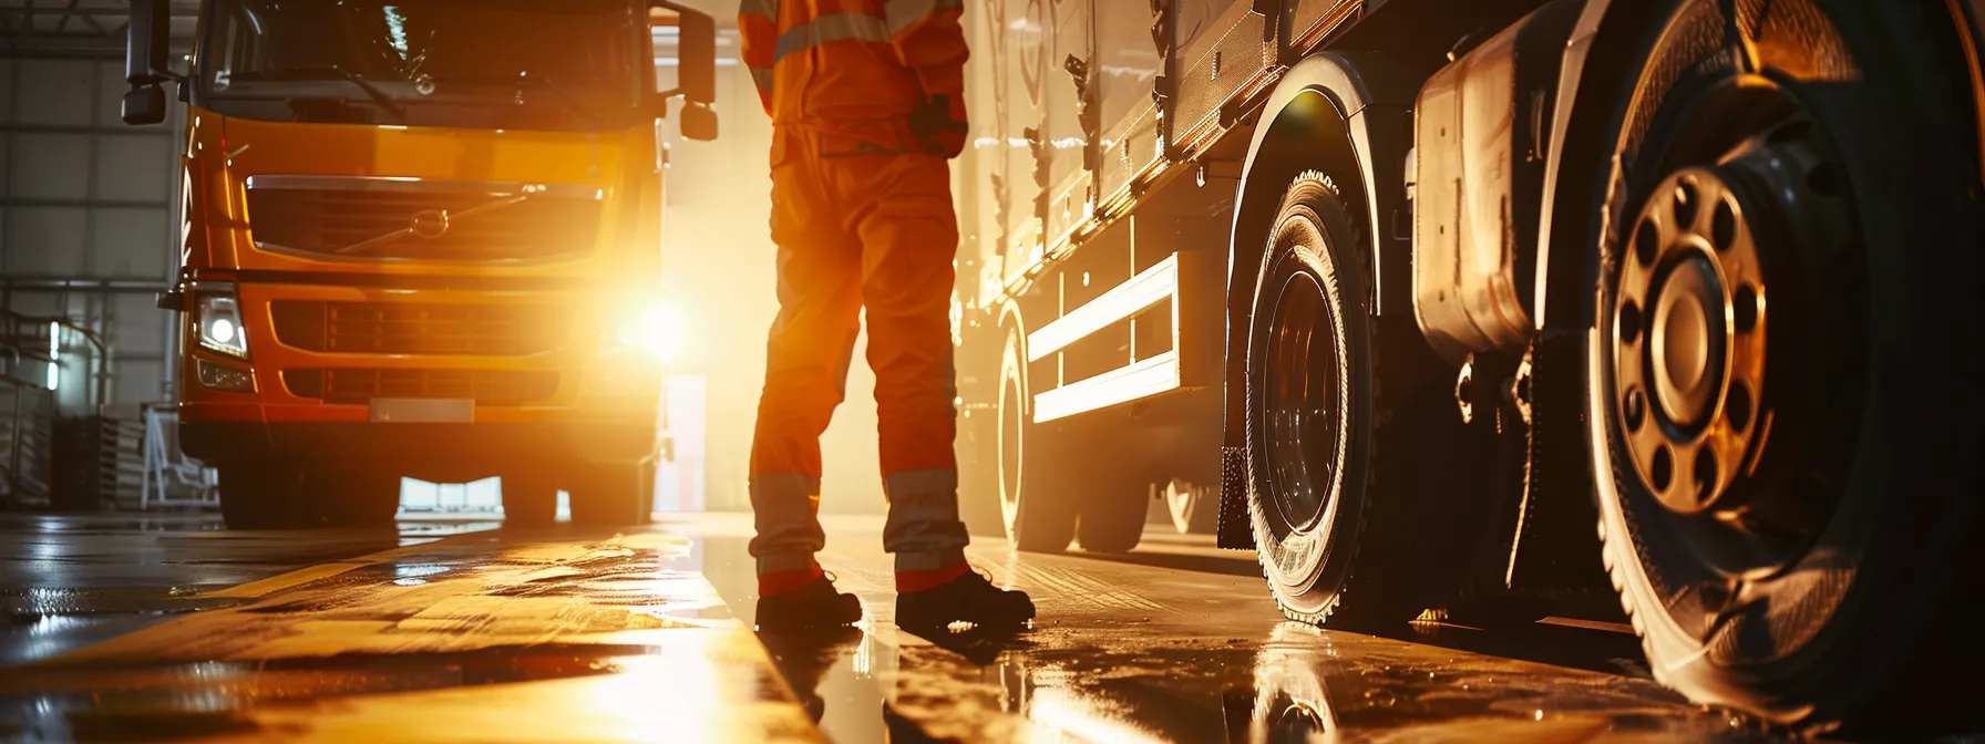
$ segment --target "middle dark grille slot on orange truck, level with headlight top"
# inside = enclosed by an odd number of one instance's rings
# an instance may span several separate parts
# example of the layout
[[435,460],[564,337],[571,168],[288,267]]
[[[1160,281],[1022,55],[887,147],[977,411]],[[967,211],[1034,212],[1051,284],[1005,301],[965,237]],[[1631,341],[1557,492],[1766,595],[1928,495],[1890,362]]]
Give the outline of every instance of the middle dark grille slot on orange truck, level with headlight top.
[[566,343],[556,308],[276,300],[276,341],[316,353],[522,357]]

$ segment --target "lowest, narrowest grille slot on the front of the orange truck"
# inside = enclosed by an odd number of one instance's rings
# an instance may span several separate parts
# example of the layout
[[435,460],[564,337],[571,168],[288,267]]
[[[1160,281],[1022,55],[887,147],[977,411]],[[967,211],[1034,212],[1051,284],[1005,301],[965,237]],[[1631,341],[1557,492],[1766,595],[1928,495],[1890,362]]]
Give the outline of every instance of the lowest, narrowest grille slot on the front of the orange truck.
[[472,399],[478,405],[522,405],[558,393],[558,373],[520,369],[286,369],[290,395],[324,403],[371,399]]

